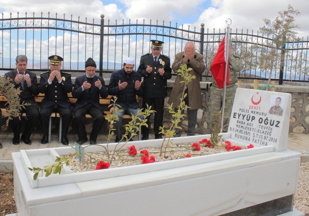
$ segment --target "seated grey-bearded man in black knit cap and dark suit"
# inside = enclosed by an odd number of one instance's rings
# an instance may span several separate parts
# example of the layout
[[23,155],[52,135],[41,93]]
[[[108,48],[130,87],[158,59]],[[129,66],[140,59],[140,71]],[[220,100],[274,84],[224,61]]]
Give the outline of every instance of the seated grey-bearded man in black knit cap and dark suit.
[[104,112],[100,105],[101,98],[106,98],[108,92],[105,87],[104,79],[95,75],[96,63],[92,58],[87,59],[85,63],[86,74],[75,79],[75,85],[72,96],[77,98],[74,112],[75,120],[78,126],[79,145],[83,145],[87,140],[87,132],[85,128],[86,114],[93,118],[92,131],[90,134],[90,144],[96,144],[96,139],[103,126]]

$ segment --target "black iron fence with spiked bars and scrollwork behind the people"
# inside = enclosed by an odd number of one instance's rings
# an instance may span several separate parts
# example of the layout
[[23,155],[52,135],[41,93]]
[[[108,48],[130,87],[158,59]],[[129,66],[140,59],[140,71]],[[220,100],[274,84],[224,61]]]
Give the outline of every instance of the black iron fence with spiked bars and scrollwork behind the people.
[[[28,56],[28,69],[34,71],[47,70],[48,56],[54,54],[64,57],[64,71],[83,71],[88,57],[99,63],[100,76],[121,69],[126,57],[135,59],[137,69],[140,56],[150,52],[150,39],[164,42],[162,53],[170,56],[171,63],[176,53],[183,51],[184,44],[192,41],[207,64],[226,33],[225,29],[205,29],[204,24],[196,28],[164,21],[159,23],[158,20],[111,21],[104,19],[104,15],[98,23],[87,18],[82,22],[80,17],[75,20],[73,15],[69,18],[66,14],[46,15],[25,13],[20,17],[17,13],[17,17],[10,14],[6,18],[2,13],[0,70],[15,68],[15,57],[20,54]],[[281,83],[284,80],[309,81],[308,37],[305,40],[290,39],[286,43],[284,59],[280,59],[281,50],[277,49],[271,64],[261,60],[261,56],[270,55],[274,46],[271,36],[236,29],[231,30],[231,39],[233,52],[244,62],[239,79],[268,79],[272,71],[272,79]],[[206,69],[203,76],[210,77],[210,71]]]

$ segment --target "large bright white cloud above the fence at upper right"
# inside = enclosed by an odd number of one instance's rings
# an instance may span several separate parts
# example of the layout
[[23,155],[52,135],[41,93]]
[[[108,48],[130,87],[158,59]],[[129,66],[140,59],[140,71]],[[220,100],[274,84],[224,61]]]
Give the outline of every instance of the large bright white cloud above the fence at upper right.
[[288,4],[291,4],[294,9],[300,11],[300,16],[296,16],[295,23],[299,24],[300,28],[295,29],[300,36],[309,35],[309,1],[292,1],[292,0],[260,0],[260,1],[242,1],[242,0],[212,0],[212,6],[205,9],[198,20],[194,23],[199,26],[200,23],[205,23],[205,29],[213,28],[224,30],[226,28],[225,20],[231,18],[232,30],[243,29],[249,32],[253,30],[254,33],[263,26],[263,18],[273,20],[279,14],[279,11],[287,10]]

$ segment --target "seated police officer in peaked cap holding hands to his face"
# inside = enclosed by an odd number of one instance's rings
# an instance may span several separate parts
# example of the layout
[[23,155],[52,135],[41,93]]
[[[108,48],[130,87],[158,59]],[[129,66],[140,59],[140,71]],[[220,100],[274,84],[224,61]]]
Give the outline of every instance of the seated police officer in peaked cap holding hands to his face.
[[71,74],[60,71],[63,58],[58,55],[48,57],[50,71],[41,73],[39,91],[45,94],[41,102],[40,122],[43,129],[42,144],[48,142],[49,117],[53,112],[59,113],[62,118],[61,143],[68,145],[66,137],[73,113],[68,93],[72,92]]

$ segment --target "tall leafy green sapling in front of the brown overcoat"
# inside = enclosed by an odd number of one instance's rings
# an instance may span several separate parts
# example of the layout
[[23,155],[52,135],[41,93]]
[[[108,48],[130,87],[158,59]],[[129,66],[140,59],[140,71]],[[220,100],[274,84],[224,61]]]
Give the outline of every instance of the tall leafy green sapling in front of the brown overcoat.
[[[191,82],[192,79],[195,79],[196,76],[195,75],[191,75],[188,72],[191,71],[192,68],[188,68],[186,64],[181,64],[180,65],[180,69],[178,71],[176,71],[178,74],[181,75],[181,77],[184,79],[183,81],[181,81],[180,83],[184,83],[184,91],[182,93],[182,97],[180,98],[180,105],[178,106],[177,112],[174,111],[173,108],[173,104],[171,104],[168,108],[168,112],[171,113],[171,115],[173,116],[173,119],[171,119],[171,126],[170,128],[168,128],[167,130],[165,130],[164,125],[163,127],[160,127],[162,134],[164,134],[164,139],[162,141],[162,145],[161,145],[161,150],[160,150],[160,156],[162,156],[162,151],[163,151],[163,145],[165,143],[165,148],[164,148],[164,157],[165,157],[165,153],[166,153],[166,148],[168,147],[169,144],[172,144],[171,141],[171,137],[173,137],[176,132],[175,129],[179,128],[181,129],[180,126],[178,126],[178,124],[180,123],[181,120],[184,119],[184,114],[183,114],[183,110],[185,108],[185,102],[184,99],[187,96],[187,94],[185,94],[185,90],[188,88],[188,83]],[[190,107],[188,107],[190,108]]]

